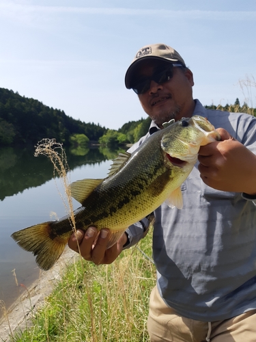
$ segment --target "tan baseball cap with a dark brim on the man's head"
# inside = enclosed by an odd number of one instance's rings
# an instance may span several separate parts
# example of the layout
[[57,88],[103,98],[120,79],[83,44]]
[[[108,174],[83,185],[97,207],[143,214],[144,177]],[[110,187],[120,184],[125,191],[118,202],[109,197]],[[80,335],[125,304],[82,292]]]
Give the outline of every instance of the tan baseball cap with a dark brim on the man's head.
[[136,53],[134,57],[134,60],[132,60],[132,63],[126,71],[126,76],[124,79],[126,88],[132,88],[132,79],[134,77],[134,71],[137,69],[139,64],[145,61],[146,59],[165,60],[171,63],[180,62],[183,66],[186,66],[180,53],[177,53],[177,51],[175,51],[172,47],[169,47],[166,44],[146,45],[145,47],[139,49],[139,51]]

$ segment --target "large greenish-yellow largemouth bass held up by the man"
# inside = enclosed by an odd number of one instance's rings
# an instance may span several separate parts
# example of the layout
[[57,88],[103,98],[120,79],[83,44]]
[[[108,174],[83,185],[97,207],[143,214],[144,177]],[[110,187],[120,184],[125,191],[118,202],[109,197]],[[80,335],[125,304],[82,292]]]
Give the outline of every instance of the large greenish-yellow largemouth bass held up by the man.
[[[190,174],[200,146],[220,137],[201,116],[171,120],[147,138],[132,154],[121,153],[105,179],[84,179],[70,185],[81,203],[74,211],[76,229],[109,228],[110,248],[126,228],[167,202],[182,209],[180,185]],[[18,245],[36,256],[36,263],[50,269],[59,259],[74,231],[68,216],[12,234]]]

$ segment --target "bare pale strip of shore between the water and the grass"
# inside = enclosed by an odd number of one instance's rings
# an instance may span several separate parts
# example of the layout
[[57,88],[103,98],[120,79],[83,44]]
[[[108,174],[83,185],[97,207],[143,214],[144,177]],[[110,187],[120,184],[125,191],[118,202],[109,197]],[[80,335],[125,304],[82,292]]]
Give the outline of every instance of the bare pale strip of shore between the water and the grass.
[[6,311],[3,309],[3,317],[0,319],[1,342],[10,342],[10,335],[12,336],[16,330],[31,326],[31,316],[44,304],[44,298],[51,294],[55,283],[61,280],[61,273],[65,271],[66,265],[74,261],[78,255],[66,247],[51,269],[42,271],[27,291],[21,293]]

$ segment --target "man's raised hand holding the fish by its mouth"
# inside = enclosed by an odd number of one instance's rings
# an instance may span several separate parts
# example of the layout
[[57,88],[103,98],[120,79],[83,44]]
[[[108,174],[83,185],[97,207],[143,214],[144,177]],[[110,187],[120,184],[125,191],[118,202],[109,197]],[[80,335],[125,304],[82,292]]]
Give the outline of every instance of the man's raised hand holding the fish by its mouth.
[[256,156],[225,129],[221,141],[201,146],[198,170],[206,185],[227,192],[256,194]]

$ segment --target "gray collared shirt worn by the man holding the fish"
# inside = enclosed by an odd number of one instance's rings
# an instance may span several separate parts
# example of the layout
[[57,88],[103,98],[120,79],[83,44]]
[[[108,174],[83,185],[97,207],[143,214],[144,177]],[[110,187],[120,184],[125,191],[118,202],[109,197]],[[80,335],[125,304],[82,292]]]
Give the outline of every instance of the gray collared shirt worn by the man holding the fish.
[[[205,109],[198,100],[193,115],[208,118],[214,127],[226,129],[256,154],[253,116]],[[151,128],[155,126],[153,122]],[[255,309],[253,201],[240,193],[208,187],[201,181],[197,164],[182,184],[182,194],[182,210],[170,209],[163,203],[154,212],[153,257],[163,300],[180,315],[200,321],[228,319]],[[146,219],[143,226],[147,226]],[[141,223],[130,226],[127,233],[130,247],[143,237]]]

